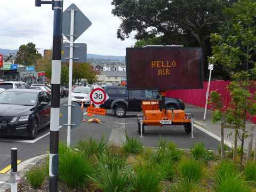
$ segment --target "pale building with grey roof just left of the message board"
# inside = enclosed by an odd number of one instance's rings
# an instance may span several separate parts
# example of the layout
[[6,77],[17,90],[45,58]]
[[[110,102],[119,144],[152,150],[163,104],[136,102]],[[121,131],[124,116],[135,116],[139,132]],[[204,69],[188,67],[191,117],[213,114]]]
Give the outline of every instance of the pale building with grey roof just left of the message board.
[[111,83],[113,85],[121,84],[126,81],[126,71],[101,71],[98,75],[98,81],[103,83]]

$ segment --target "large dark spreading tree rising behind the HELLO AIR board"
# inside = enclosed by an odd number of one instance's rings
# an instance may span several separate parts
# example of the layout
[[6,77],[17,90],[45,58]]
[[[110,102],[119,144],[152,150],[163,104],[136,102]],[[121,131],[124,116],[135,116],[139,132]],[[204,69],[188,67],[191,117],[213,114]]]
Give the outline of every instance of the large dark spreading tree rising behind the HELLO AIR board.
[[[201,46],[204,62],[210,54],[209,38],[225,20],[222,10],[229,0],[113,0],[112,13],[121,18],[117,37],[132,31],[135,39],[158,37],[162,44]],[[207,68],[205,68],[205,71]]]

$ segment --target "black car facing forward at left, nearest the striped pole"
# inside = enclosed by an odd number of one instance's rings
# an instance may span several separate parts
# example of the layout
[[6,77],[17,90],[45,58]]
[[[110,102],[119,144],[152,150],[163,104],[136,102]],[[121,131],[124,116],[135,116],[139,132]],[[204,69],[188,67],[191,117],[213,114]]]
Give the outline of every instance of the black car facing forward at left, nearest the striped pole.
[[0,136],[26,136],[50,124],[51,95],[34,89],[10,89],[0,94]]

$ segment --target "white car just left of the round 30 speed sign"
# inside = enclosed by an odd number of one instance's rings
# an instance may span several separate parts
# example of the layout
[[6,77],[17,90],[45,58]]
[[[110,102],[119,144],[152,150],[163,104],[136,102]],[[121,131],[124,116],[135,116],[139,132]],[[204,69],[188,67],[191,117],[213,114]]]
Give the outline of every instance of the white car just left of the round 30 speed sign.
[[84,87],[84,86],[78,86],[75,87],[71,93],[72,101],[75,101],[77,103],[84,102],[84,105],[90,105],[91,99],[90,99],[90,87]]

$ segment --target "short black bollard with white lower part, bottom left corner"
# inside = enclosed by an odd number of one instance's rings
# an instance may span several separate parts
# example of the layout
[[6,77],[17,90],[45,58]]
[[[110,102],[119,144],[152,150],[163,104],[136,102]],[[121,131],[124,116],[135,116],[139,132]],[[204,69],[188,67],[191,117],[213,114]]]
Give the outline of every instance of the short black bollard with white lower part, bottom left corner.
[[10,183],[11,183],[11,191],[12,192],[17,192],[17,148],[12,148],[11,149],[11,173],[10,173]]

